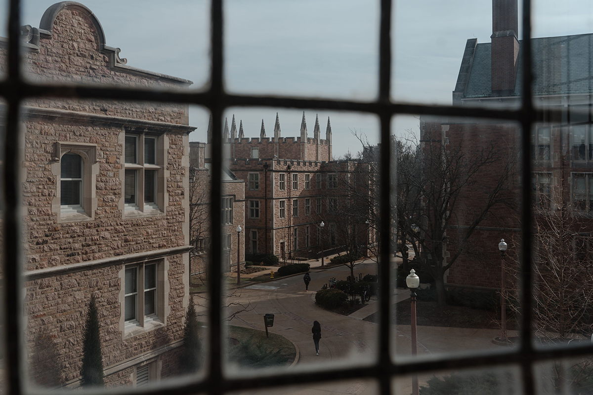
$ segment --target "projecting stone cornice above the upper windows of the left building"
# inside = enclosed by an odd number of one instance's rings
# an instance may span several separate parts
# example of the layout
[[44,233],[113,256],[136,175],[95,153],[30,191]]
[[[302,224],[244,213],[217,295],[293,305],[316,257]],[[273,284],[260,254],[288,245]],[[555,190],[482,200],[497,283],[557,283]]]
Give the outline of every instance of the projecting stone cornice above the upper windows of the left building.
[[78,111],[58,110],[55,108],[23,107],[25,118],[33,117],[46,120],[70,121],[85,124],[109,124],[122,127],[135,127],[139,129],[154,130],[159,132],[170,131],[173,133],[190,133],[197,129],[194,126],[180,125],[166,122],[146,121],[133,118],[116,117],[113,115],[100,115],[79,113]]

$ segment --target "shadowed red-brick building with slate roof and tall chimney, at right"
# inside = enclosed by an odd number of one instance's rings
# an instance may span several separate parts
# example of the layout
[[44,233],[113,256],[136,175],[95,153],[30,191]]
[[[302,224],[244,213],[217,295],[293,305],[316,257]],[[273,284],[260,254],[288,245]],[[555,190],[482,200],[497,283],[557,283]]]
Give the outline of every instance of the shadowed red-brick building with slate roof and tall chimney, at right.
[[[493,33],[491,43],[467,40],[461,68],[452,93],[453,103],[461,106],[488,105],[515,108],[521,102],[522,41],[518,40],[516,0],[493,0]],[[589,250],[593,222],[593,133],[591,130],[591,94],[593,76],[589,68],[593,61],[593,34],[533,38],[533,95],[537,107],[547,111],[544,119],[530,131],[521,131],[516,124],[498,121],[444,121],[423,118],[420,123],[422,140],[436,138],[445,143],[465,141],[467,149],[494,142],[516,155],[521,134],[531,134],[531,158],[536,221],[539,215],[555,215],[560,206],[569,207],[579,233],[571,243],[581,243]],[[560,114],[560,115],[559,115]],[[527,154],[527,153],[526,153]],[[486,185],[495,179],[500,165],[494,165],[482,175]],[[520,201],[519,176],[509,180],[515,194],[515,207]],[[554,192],[556,191],[556,192]],[[593,198],[592,198],[593,199]],[[464,197],[455,216],[455,226],[447,230],[450,239],[459,237],[460,227],[468,226],[467,213],[482,202]],[[509,253],[519,251],[519,213],[498,205],[480,223],[470,239],[473,252],[462,253],[447,274],[449,284],[483,287],[500,286],[500,239],[509,241]],[[451,243],[454,244],[454,243]],[[456,252],[453,246],[445,256]]]

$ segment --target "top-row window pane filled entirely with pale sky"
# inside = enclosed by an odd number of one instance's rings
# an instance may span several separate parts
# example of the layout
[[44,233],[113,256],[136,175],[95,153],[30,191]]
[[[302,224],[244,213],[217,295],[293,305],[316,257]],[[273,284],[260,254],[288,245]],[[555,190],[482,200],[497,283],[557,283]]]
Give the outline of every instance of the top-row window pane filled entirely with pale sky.
[[346,8],[339,0],[274,7],[267,1],[232,0],[224,5],[230,91],[359,99],[377,95],[377,1],[356,0]]

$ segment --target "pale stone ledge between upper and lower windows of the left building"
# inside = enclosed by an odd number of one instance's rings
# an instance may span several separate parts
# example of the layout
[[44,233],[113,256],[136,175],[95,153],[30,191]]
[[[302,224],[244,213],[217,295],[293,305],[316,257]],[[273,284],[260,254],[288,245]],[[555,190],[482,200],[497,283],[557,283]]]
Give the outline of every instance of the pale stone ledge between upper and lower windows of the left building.
[[174,248],[160,249],[156,251],[147,251],[141,253],[132,253],[127,255],[112,256],[111,258],[97,259],[96,261],[80,262],[79,264],[56,266],[52,268],[30,270],[24,273],[24,281],[39,280],[41,278],[55,277],[76,272],[82,272],[92,269],[104,268],[112,265],[138,264],[141,262],[161,259],[165,256],[178,255],[189,252],[193,246],[180,246]]

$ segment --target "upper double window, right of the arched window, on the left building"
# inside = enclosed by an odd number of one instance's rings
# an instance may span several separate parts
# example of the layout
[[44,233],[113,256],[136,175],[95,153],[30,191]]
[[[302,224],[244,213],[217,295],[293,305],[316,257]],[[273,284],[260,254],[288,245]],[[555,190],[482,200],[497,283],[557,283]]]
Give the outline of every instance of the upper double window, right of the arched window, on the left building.
[[126,134],[124,203],[127,209],[158,210],[157,139]]

